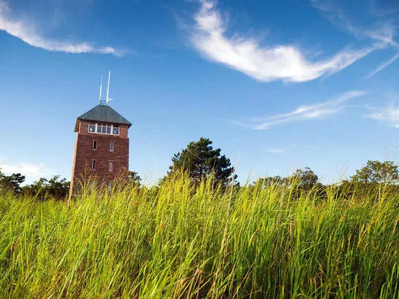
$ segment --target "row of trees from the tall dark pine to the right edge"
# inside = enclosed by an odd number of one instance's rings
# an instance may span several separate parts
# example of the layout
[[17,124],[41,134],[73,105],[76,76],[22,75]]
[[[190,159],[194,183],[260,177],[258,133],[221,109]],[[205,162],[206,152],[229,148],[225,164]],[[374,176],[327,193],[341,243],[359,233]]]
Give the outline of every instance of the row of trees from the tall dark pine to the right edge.
[[[163,179],[174,175],[176,172],[189,173],[193,183],[198,183],[210,175],[215,183],[220,183],[226,187],[234,185],[239,187],[236,182],[237,175],[235,169],[231,166],[230,159],[220,154],[220,149],[213,149],[212,142],[209,139],[200,138],[198,142],[191,142],[187,148],[175,154],[172,158],[173,164],[170,171]],[[161,180],[161,183],[163,182]],[[244,187],[265,188],[270,185],[284,186],[291,190],[294,197],[298,197],[302,192],[312,191],[314,195],[326,196],[327,189],[334,189],[338,195],[351,196],[355,191],[359,195],[368,195],[366,193],[375,190],[375,187],[384,183],[390,186],[390,190],[398,191],[395,183],[399,182],[399,167],[393,161],[367,161],[367,164],[356,170],[356,173],[338,184],[323,185],[319,177],[309,168],[297,169],[291,175],[268,176],[258,178],[251,184]]]

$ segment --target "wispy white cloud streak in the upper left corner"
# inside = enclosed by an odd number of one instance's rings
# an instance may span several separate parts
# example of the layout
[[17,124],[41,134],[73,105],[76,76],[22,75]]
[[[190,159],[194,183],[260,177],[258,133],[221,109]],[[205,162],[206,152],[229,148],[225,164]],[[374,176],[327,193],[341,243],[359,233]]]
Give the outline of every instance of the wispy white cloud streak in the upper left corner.
[[66,53],[99,53],[122,56],[127,51],[117,50],[113,47],[95,47],[88,42],[68,42],[48,39],[40,34],[34,22],[28,19],[15,19],[7,2],[0,0],[0,30],[13,35],[27,44],[48,51]]

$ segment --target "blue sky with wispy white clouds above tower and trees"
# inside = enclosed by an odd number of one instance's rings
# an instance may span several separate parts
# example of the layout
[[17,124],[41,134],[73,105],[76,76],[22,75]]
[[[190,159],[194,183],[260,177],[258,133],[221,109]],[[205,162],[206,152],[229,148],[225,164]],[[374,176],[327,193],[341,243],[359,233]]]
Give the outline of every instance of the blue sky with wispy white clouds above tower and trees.
[[397,161],[398,31],[397,0],[0,0],[2,171],[70,179],[108,70],[147,182],[201,136],[241,182]]

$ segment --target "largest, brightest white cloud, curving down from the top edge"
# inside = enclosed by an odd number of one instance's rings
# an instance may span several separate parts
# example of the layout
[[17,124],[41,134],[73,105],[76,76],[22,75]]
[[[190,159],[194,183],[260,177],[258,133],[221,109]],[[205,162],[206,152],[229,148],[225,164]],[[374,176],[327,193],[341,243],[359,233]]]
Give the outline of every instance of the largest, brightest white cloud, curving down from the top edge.
[[216,4],[216,1],[200,0],[191,31],[192,44],[206,58],[261,82],[303,82],[331,75],[380,47],[372,45],[358,50],[343,50],[329,59],[310,61],[291,45],[262,46],[253,37],[227,34],[227,21],[222,18]]

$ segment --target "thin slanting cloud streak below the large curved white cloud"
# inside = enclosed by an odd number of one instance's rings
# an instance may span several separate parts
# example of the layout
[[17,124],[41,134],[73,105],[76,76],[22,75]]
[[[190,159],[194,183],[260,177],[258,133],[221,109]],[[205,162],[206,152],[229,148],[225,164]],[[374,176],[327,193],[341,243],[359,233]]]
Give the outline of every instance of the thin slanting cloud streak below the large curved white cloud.
[[234,122],[235,124],[245,126],[253,130],[269,129],[276,125],[284,123],[320,119],[329,115],[342,111],[345,108],[345,103],[354,98],[359,98],[367,93],[364,91],[349,91],[338,98],[314,105],[300,106],[292,112],[267,116],[264,118],[251,119],[248,122]]

